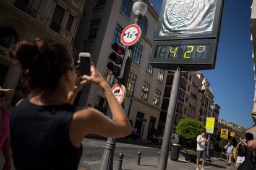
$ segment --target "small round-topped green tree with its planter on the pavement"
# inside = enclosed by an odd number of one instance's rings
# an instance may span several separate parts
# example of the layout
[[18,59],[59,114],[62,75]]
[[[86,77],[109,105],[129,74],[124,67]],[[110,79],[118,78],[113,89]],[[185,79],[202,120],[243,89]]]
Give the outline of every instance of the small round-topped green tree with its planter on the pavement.
[[[193,118],[181,119],[177,124],[177,134],[186,140],[186,148],[181,150],[185,160],[189,160],[194,163],[197,160],[195,140],[204,129],[205,125]],[[192,146],[192,144],[194,145]]]

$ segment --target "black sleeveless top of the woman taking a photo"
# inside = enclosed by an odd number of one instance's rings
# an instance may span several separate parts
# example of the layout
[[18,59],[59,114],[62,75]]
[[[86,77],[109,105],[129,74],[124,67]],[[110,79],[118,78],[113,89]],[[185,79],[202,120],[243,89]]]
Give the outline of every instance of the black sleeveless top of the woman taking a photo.
[[17,170],[77,170],[82,145],[69,140],[69,124],[75,107],[34,105],[23,100],[11,116],[11,148]]

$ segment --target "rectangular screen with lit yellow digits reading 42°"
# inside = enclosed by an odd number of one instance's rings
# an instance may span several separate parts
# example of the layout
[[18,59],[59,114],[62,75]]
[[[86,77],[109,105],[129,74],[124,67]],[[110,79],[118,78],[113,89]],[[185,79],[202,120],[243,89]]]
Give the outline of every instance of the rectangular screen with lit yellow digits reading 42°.
[[157,46],[156,54],[158,54],[158,58],[205,59],[208,49],[208,44]]

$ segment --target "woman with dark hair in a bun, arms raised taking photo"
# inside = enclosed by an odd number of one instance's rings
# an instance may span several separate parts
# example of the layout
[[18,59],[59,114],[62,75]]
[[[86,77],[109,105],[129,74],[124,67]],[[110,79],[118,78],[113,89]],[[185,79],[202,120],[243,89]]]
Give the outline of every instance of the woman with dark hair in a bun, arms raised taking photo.
[[[93,65],[91,76],[79,81],[66,46],[50,40],[25,40],[15,44],[10,55],[21,64],[23,81],[30,89],[28,99],[17,103],[11,118],[16,169],[77,169],[87,134],[125,137],[132,131],[123,108]],[[101,87],[113,120],[94,108],[72,106],[87,83]]]

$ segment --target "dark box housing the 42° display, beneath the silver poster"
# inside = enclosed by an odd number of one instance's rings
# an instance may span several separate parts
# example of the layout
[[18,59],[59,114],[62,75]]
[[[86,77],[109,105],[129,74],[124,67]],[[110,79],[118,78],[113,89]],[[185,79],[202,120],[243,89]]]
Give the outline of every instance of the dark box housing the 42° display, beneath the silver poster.
[[[150,64],[155,68],[186,71],[213,68],[215,65],[216,39],[156,41]],[[185,69],[183,69],[185,70]]]

